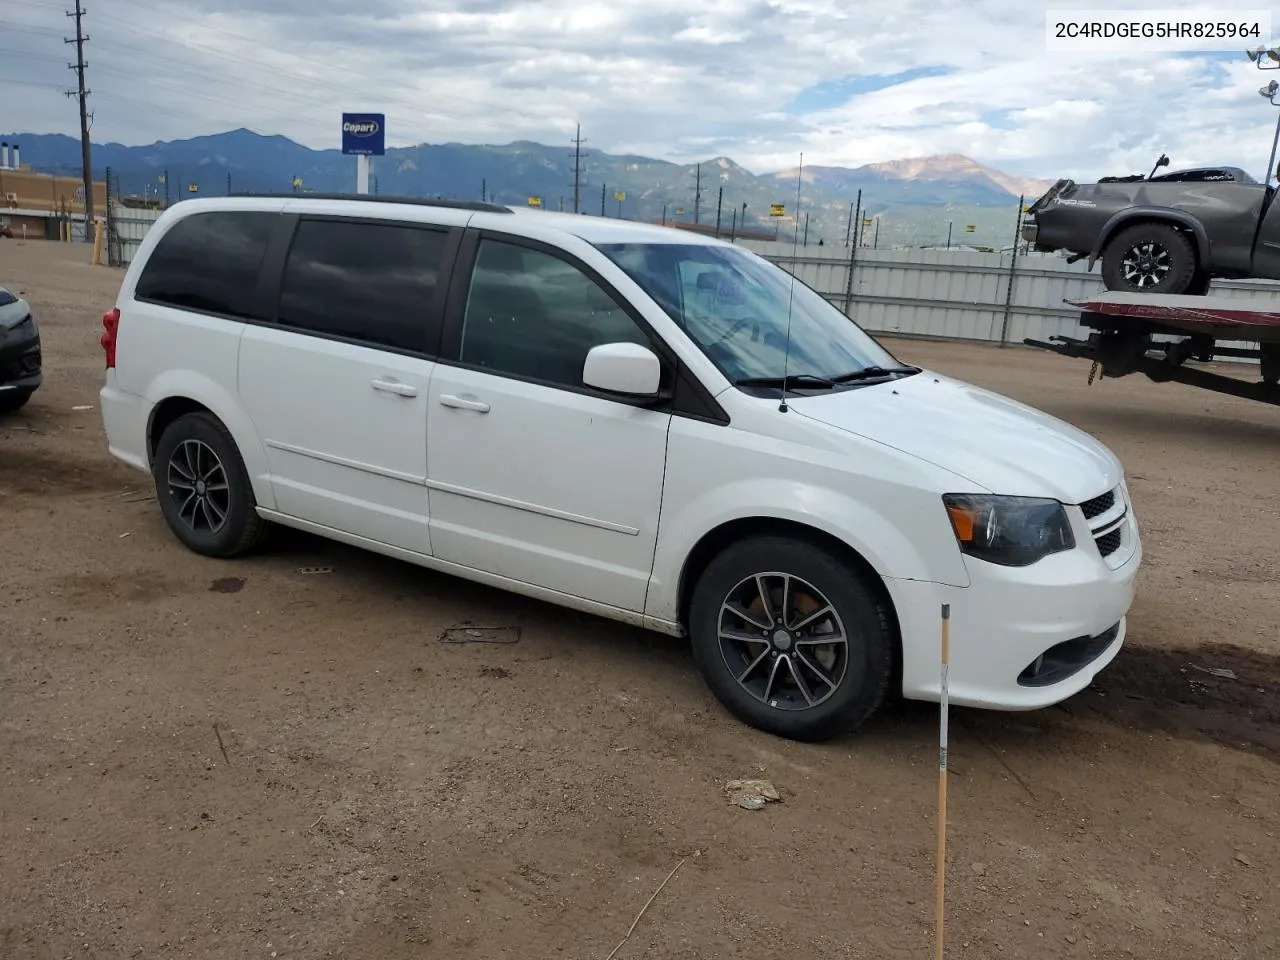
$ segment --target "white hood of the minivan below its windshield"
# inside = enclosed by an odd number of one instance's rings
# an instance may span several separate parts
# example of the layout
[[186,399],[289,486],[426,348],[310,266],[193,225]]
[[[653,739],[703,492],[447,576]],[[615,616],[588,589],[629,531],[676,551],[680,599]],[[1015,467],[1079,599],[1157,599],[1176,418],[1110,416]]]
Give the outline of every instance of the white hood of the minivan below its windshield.
[[1080,503],[1116,486],[1124,475],[1111,451],[1083,430],[929,370],[792,397],[787,406],[956,474],[979,488],[973,493]]

